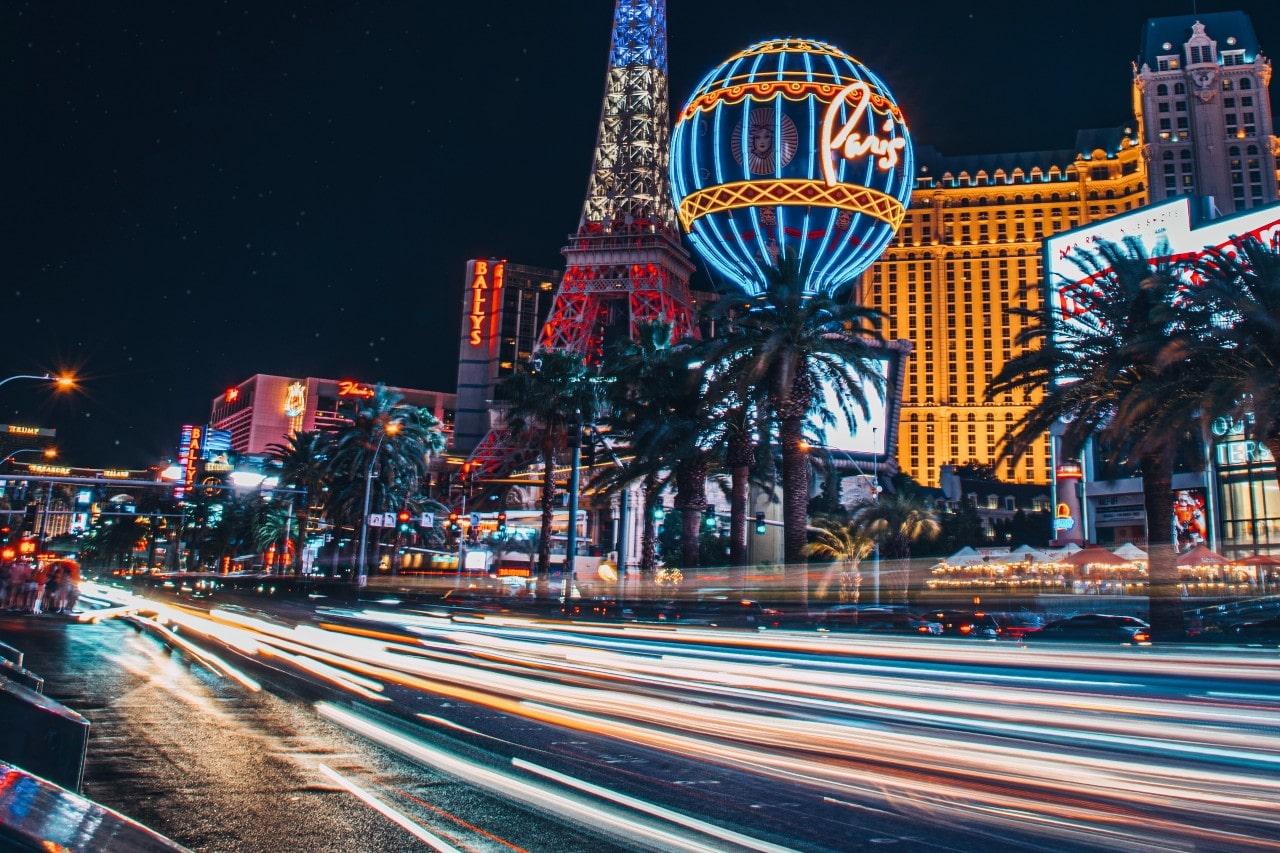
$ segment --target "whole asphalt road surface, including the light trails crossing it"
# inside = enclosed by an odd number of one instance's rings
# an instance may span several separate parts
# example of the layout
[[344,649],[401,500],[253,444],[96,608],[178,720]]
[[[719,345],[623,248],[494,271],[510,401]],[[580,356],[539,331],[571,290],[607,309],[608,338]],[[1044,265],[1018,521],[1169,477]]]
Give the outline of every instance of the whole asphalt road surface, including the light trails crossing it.
[[456,849],[1280,849],[1275,651],[131,603],[0,629],[195,848],[433,845],[329,767]]

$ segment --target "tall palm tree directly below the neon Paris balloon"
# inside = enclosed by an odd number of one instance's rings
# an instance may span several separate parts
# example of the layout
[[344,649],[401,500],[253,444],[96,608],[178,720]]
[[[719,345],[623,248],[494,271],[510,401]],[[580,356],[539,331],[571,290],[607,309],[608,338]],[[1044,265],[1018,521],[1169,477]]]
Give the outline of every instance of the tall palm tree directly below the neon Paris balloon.
[[[724,334],[708,347],[716,388],[742,400],[763,393],[777,421],[782,450],[783,555],[797,567],[804,598],[804,546],[808,538],[809,459],[805,424],[823,388],[835,391],[841,415],[852,428],[867,416],[867,387],[881,383],[876,369],[879,313],[826,293],[806,295],[801,263],[782,257],[769,286],[755,297],[723,300],[717,315]],[[792,569],[795,571],[796,569]]]

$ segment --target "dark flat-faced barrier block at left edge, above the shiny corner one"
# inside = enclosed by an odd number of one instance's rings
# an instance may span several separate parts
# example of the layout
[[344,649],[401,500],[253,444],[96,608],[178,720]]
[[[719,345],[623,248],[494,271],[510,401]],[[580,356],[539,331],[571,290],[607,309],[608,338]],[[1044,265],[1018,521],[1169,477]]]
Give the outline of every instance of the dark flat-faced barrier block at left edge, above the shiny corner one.
[[49,697],[0,679],[0,761],[79,790],[88,720]]

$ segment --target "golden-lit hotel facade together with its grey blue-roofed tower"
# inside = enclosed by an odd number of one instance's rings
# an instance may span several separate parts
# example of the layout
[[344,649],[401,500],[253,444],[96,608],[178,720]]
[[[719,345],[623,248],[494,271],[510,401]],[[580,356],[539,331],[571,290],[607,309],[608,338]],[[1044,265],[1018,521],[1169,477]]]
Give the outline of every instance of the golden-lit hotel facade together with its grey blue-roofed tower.
[[[1207,54],[1206,40],[1239,53]],[[1183,56],[1181,68],[1161,65],[1166,44],[1169,55]],[[1151,50],[1157,54],[1148,56]],[[937,487],[942,465],[995,462],[1005,432],[1037,402],[1036,394],[1021,393],[988,402],[986,388],[1016,353],[1024,328],[1006,309],[1042,305],[1046,237],[1169,195],[1213,195],[1219,210],[1275,201],[1270,79],[1247,15],[1158,18],[1148,22],[1134,67],[1137,129],[1080,131],[1073,149],[1059,151],[945,156],[918,147],[906,219],[859,291],[864,304],[888,318],[884,336],[913,345],[897,439],[904,471]],[[1179,85],[1199,95],[1175,96]],[[1161,86],[1167,96],[1158,93]],[[1251,91],[1245,113],[1242,92]],[[1166,120],[1167,140],[1161,136]],[[1187,134],[1174,138],[1183,124]],[[1044,483],[1051,466],[1046,437],[1016,465],[1001,464],[997,475]]]

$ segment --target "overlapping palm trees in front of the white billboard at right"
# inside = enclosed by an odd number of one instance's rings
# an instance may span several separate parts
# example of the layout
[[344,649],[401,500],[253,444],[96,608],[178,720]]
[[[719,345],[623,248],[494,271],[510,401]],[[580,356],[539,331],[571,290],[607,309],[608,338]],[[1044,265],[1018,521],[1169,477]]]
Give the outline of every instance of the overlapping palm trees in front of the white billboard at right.
[[1155,261],[1137,241],[1075,257],[1079,313],[1010,309],[1021,353],[987,398],[1039,393],[1005,437],[1016,460],[1060,425],[1065,459],[1093,441],[1143,479],[1152,630],[1181,637],[1170,488],[1178,451],[1230,419],[1280,459],[1280,254],[1247,240],[1190,263]]

